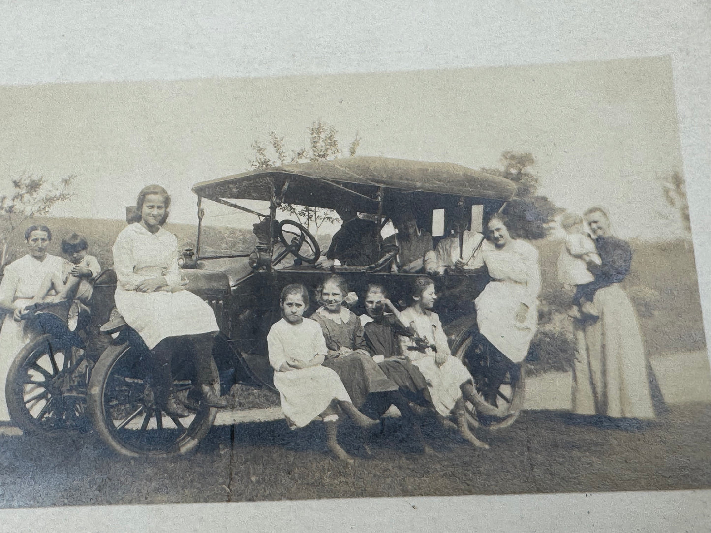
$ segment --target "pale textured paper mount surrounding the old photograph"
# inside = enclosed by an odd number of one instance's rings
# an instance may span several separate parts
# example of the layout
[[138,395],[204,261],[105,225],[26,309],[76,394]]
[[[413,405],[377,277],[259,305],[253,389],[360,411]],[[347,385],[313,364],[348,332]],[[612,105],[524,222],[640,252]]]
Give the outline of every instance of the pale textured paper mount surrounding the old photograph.
[[[145,4],[145,5],[144,5]],[[705,1],[0,2],[0,84],[304,75],[670,55],[707,345]],[[0,529],[703,531],[711,491],[4,510]]]

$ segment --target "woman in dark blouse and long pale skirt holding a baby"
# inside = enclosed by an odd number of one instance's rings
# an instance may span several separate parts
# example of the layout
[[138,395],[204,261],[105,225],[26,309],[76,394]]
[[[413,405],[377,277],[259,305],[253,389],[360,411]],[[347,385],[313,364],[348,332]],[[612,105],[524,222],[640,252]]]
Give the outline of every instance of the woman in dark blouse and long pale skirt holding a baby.
[[575,322],[573,411],[613,418],[655,417],[647,360],[634,307],[620,283],[630,271],[632,249],[612,234],[602,208],[584,213],[602,264],[589,262],[594,281],[586,286],[597,316]]

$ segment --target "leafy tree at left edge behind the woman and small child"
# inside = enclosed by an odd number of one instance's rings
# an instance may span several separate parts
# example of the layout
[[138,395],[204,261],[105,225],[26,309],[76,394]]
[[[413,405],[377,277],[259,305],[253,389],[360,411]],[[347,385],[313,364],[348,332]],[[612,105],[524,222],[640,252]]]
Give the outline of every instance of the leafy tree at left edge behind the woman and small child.
[[73,196],[69,189],[76,176],[71,175],[58,183],[48,181],[44,176],[20,176],[11,181],[12,189],[0,195],[0,271],[7,259],[8,242],[11,234],[29,218],[46,215],[56,203]]

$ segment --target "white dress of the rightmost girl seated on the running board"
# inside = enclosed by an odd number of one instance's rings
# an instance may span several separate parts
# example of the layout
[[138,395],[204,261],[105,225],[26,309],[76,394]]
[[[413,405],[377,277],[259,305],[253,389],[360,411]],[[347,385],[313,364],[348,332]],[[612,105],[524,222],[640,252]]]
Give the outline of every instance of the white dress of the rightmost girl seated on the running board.
[[442,322],[439,321],[437,313],[425,311],[422,315],[417,313],[415,308],[408,307],[400,313],[400,321],[414,327],[419,338],[427,337],[429,343],[437,346],[437,353],[447,354],[447,361],[440,367],[434,360],[436,352],[432,348],[427,348],[424,353],[412,350],[412,339],[400,337],[402,353],[410,358],[427,382],[434,409],[442,416],[448,416],[456,401],[461,398],[459,387],[471,381],[469,370],[466,370],[459,359],[451,356],[447,335],[442,330]]

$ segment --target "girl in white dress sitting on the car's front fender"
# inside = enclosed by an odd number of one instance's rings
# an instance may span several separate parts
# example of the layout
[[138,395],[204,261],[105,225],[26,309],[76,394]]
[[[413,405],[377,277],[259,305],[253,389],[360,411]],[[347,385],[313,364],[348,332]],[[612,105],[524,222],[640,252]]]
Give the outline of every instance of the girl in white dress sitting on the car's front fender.
[[[178,270],[178,239],[163,228],[170,196],[159,185],[149,185],[136,200],[140,222],[119,233],[112,249],[117,276],[116,308],[141,335],[156,361],[156,388],[170,416],[188,416],[169,389],[172,348],[192,350],[203,403],[226,407],[212,387],[213,338],[218,332],[215,313],[196,294],[186,291]],[[162,342],[171,339],[172,342]]]

